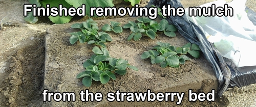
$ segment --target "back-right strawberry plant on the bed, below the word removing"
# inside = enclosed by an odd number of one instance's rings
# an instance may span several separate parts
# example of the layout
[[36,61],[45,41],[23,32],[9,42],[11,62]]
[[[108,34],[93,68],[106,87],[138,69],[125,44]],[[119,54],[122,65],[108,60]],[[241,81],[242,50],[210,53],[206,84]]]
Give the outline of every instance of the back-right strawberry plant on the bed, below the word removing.
[[158,31],[163,32],[168,37],[175,37],[174,33],[177,31],[177,28],[173,24],[169,24],[167,20],[162,19],[160,23],[157,21],[153,21],[148,17],[141,17],[137,19],[137,23],[133,21],[129,21],[128,23],[123,25],[123,29],[128,29],[133,32],[127,40],[134,39],[135,41],[140,40],[142,34],[150,37],[151,39],[156,38],[156,33]]

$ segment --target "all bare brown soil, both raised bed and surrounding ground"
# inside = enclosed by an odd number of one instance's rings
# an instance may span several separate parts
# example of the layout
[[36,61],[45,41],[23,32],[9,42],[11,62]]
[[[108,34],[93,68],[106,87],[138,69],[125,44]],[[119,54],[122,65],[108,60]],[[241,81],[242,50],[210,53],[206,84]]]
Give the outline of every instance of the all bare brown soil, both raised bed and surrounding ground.
[[[189,1],[182,0],[185,5]],[[208,1],[205,1],[208,2]],[[190,4],[201,5],[205,2]],[[11,22],[26,23],[23,20],[23,4],[28,1],[4,1],[0,0],[0,18],[8,16]],[[145,6],[147,1],[142,1],[141,6]],[[247,2],[247,6],[255,11],[255,1]],[[189,6],[190,6],[189,5]],[[110,20],[97,21],[99,26],[108,23]],[[127,19],[118,19],[124,22]],[[77,95],[76,102],[43,102],[41,92],[43,89],[49,89],[54,92],[75,92],[79,93],[81,89],[86,89],[80,79],[75,76],[83,70],[82,63],[90,58],[90,51],[93,45],[76,43],[70,45],[69,32],[71,24],[63,24],[57,32],[49,31],[47,28],[56,28],[54,25],[47,24],[27,24],[27,27],[6,26],[5,30],[0,30],[0,106],[176,106],[176,102],[81,102]],[[49,40],[49,46],[54,47],[48,50],[46,55],[46,35],[54,34],[56,37]],[[92,92],[102,92],[105,95],[112,90],[136,92],[139,90],[152,89],[155,92],[178,91],[187,92],[187,89],[194,89],[196,92],[208,92],[210,89],[216,89],[216,77],[212,73],[212,68],[203,58],[193,59],[186,62],[178,69],[161,68],[159,65],[152,65],[149,60],[140,61],[140,55],[144,50],[152,48],[156,41],[169,42],[172,45],[181,46],[187,41],[179,34],[175,38],[167,38],[159,35],[156,40],[142,38],[140,42],[126,41],[130,32],[124,30],[122,34],[111,34],[113,42],[107,44],[111,56],[128,60],[132,65],[136,65],[144,71],[129,70],[124,76],[117,76],[117,80],[112,80],[108,84],[101,85],[94,82],[90,88]],[[49,36],[48,36],[49,37]],[[128,51],[129,50],[129,51]],[[79,54],[74,51],[78,51]],[[48,56],[48,57],[47,57]],[[72,57],[67,57],[72,56]],[[137,56],[137,57],[133,57]],[[48,59],[49,62],[45,62]],[[140,61],[140,62],[138,62]],[[48,68],[45,65],[49,64]],[[72,68],[72,65],[76,65]],[[147,65],[147,66],[144,66]],[[55,71],[55,72],[54,72]],[[61,72],[63,71],[63,72]],[[150,72],[149,72],[150,71]],[[172,71],[172,72],[166,72]],[[45,75],[47,79],[45,80]],[[200,86],[191,84],[187,87],[181,87],[180,84],[189,84],[197,80],[194,78],[205,79]],[[169,81],[166,82],[166,81]],[[45,83],[46,82],[46,83]],[[173,83],[171,83],[173,82]],[[152,85],[153,84],[153,85]],[[47,86],[47,87],[45,87]],[[168,89],[170,86],[175,86]],[[205,89],[211,86],[211,88]],[[180,89],[184,90],[180,90]],[[164,89],[164,90],[162,90]],[[226,91],[222,98],[217,98],[215,102],[189,102],[187,95],[182,101],[182,106],[255,106],[256,105],[256,86],[250,85],[242,89],[233,88]],[[105,99],[105,98],[104,98]]]

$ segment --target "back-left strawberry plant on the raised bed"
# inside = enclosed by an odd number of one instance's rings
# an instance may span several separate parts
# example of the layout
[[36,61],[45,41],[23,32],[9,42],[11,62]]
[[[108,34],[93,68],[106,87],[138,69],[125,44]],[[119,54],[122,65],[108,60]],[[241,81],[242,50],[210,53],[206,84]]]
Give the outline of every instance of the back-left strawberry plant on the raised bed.
[[95,44],[102,47],[106,47],[104,44],[107,41],[112,41],[109,34],[105,32],[98,32],[98,24],[93,19],[88,19],[86,22],[75,23],[71,25],[71,28],[80,29],[79,32],[70,33],[70,43],[74,44],[79,40],[80,43],[87,42],[88,44]]

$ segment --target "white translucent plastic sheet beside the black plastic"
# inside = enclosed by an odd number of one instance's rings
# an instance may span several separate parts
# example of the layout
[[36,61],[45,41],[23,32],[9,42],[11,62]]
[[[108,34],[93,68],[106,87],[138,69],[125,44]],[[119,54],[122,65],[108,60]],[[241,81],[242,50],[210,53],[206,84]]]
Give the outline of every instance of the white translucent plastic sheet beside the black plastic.
[[[233,8],[232,17],[188,17],[202,29],[208,41],[215,44],[221,55],[231,59],[237,67],[256,66],[256,26],[247,17],[245,3],[244,0],[228,3]],[[226,2],[216,1],[200,7],[210,7],[211,4],[223,7]],[[185,10],[188,15],[188,8]]]

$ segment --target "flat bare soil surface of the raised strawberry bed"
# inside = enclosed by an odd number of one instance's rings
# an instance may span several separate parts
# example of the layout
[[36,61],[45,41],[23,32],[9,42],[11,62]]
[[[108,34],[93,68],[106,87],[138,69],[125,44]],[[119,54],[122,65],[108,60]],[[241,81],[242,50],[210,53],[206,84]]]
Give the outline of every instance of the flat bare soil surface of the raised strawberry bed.
[[[135,21],[136,18],[118,18],[121,24],[127,21]],[[113,19],[97,20],[99,28],[105,23],[110,23]],[[158,20],[160,21],[160,20]],[[82,64],[89,59],[93,52],[94,45],[84,43],[76,43],[70,45],[70,32],[75,32],[71,29],[70,24],[54,25],[47,30],[46,35],[46,66],[45,67],[45,89],[50,92],[74,92],[76,93],[75,102],[46,102],[44,106],[118,106],[118,105],[136,105],[136,106],[152,106],[152,105],[176,105],[174,102],[108,102],[105,95],[108,92],[144,92],[151,89],[154,92],[185,92],[188,89],[193,89],[195,92],[209,92],[211,89],[217,89],[217,79],[211,69],[209,63],[201,57],[200,59],[193,59],[181,65],[180,68],[161,68],[160,65],[152,65],[150,60],[142,60],[140,57],[142,52],[151,49],[156,45],[157,41],[168,42],[175,46],[183,46],[187,41],[179,34],[174,38],[169,38],[159,34],[155,40],[148,37],[142,37],[139,41],[127,41],[127,36],[130,34],[129,29],[123,30],[120,34],[110,32],[112,42],[106,43],[110,52],[110,56],[114,58],[122,58],[131,65],[138,67],[139,71],[127,70],[125,75],[117,75],[117,79],[107,84],[100,84],[93,82],[89,88],[81,84],[81,79],[76,79],[76,75],[83,71]],[[60,27],[61,26],[61,27]],[[205,87],[203,87],[205,86]],[[203,87],[203,88],[202,88]],[[81,90],[89,89],[93,93],[100,92],[105,98],[101,102],[87,102],[80,101],[79,92]],[[185,95],[187,96],[187,95]],[[181,105],[190,105],[184,98]],[[203,105],[210,104],[208,101],[198,103]],[[100,104],[100,105],[99,105]],[[212,105],[216,102],[212,103]]]

